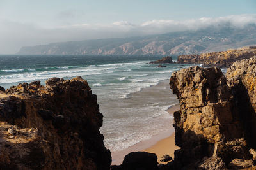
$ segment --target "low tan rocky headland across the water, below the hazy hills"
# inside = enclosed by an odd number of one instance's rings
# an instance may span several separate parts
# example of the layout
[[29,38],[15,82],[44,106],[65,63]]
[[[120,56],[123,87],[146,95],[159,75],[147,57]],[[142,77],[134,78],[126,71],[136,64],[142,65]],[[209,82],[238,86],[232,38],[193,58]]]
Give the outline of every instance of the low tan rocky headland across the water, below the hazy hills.
[[256,55],[256,48],[250,46],[237,50],[225,52],[211,52],[194,55],[178,56],[178,63],[198,63],[206,67],[230,67],[233,62],[241,59],[248,59]]

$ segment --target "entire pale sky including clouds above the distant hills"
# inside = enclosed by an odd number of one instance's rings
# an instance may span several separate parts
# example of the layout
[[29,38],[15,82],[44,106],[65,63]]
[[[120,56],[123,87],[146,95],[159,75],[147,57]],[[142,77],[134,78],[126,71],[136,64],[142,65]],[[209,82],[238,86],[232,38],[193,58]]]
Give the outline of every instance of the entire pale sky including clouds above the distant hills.
[[255,0],[0,0],[0,54],[22,46],[256,24]]

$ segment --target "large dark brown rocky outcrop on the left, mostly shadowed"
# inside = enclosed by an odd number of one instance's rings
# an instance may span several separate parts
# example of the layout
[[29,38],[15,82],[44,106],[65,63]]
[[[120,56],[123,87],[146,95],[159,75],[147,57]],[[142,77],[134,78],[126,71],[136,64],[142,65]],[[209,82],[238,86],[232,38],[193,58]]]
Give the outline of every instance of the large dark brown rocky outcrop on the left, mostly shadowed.
[[0,91],[0,169],[109,169],[102,117],[81,77]]

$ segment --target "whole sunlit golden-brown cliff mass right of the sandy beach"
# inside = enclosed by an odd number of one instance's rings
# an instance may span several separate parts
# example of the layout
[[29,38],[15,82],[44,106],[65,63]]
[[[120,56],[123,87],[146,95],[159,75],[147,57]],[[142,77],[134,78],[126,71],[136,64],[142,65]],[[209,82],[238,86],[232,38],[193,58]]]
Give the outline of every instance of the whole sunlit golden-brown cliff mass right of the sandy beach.
[[256,169],[256,57],[218,68],[172,74],[179,97],[174,114],[175,160],[167,169]]

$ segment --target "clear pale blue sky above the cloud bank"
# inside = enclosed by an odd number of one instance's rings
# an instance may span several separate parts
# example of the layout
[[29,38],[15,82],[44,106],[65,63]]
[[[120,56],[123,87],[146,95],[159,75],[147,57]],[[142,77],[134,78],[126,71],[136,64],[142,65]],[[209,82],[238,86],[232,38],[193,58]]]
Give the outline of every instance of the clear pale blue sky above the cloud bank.
[[252,14],[255,0],[1,0],[0,18],[42,27],[70,24],[109,24],[125,20],[188,20],[201,17]]

